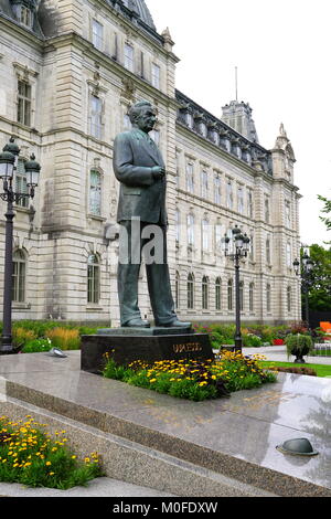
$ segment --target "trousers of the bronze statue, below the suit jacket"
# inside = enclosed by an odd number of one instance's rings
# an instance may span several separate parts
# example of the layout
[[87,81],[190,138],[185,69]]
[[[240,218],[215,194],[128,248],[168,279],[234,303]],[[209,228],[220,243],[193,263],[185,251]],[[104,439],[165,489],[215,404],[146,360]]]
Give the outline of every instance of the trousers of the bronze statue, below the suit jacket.
[[[157,326],[177,319],[167,263],[167,230],[147,222],[122,221],[119,234],[117,272],[120,324],[141,317],[138,306],[138,279],[145,257],[148,292]],[[152,254],[152,255],[151,255]]]

